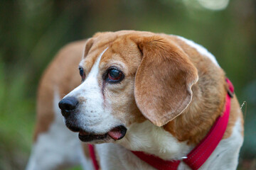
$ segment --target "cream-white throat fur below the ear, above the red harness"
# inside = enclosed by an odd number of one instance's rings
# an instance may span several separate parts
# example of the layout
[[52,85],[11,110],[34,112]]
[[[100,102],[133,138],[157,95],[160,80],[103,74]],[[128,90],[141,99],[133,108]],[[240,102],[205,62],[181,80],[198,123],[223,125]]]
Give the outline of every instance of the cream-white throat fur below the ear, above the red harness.
[[193,149],[193,146],[178,142],[171,133],[148,120],[132,125],[118,143],[129,150],[154,154],[161,159],[181,159]]

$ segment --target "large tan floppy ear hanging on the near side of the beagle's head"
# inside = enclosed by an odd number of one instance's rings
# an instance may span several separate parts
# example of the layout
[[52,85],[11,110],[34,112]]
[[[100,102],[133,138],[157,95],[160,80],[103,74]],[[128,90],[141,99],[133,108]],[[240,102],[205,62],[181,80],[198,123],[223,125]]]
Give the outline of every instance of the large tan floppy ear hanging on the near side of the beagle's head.
[[181,48],[159,35],[131,38],[142,52],[134,96],[139,110],[154,125],[162,126],[191,103],[191,87],[198,72]]

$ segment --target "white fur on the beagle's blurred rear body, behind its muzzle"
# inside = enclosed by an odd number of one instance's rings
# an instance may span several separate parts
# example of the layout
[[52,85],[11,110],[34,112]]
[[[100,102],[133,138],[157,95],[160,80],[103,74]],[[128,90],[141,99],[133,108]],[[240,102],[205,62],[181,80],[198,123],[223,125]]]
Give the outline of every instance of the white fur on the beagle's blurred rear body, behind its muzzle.
[[55,91],[53,99],[55,119],[49,130],[41,133],[34,143],[27,170],[50,170],[77,164],[92,167],[90,160],[86,160],[82,153],[78,133],[71,132],[63,123],[58,108],[59,101],[60,97]]

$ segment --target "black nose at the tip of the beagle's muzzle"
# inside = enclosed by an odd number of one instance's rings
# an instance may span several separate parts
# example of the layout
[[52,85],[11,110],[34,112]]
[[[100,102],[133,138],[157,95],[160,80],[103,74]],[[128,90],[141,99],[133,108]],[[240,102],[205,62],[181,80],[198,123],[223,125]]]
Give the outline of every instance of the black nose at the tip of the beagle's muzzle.
[[78,100],[74,97],[63,98],[63,100],[59,102],[59,108],[63,116],[68,116],[70,111],[73,111],[77,105]]

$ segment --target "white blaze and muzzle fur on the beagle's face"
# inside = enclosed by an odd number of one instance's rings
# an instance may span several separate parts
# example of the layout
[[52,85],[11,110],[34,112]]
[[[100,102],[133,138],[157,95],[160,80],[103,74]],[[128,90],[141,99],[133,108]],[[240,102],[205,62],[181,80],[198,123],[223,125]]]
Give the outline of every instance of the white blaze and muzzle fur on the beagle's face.
[[111,108],[104,105],[102,89],[100,89],[97,79],[100,59],[106,50],[107,48],[97,58],[87,79],[65,96],[65,98],[69,96],[82,98],[79,101],[78,112],[75,113],[77,124],[82,130],[97,134],[104,134],[120,124],[119,120],[111,115]]

